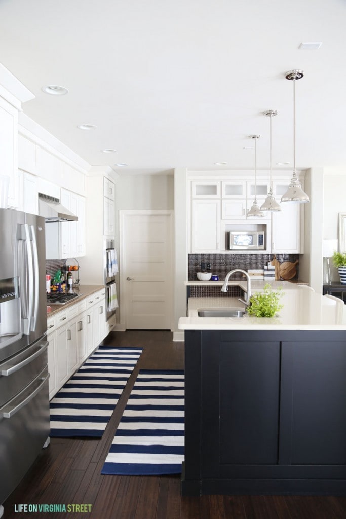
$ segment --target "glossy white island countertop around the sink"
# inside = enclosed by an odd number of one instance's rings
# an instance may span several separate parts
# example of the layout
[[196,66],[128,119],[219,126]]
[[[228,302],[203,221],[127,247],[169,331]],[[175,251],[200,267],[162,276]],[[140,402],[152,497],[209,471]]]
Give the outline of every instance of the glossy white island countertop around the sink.
[[[203,283],[203,281],[201,282]],[[218,283],[217,281],[214,283]],[[261,292],[267,281],[253,281],[251,291]],[[222,284],[222,282],[221,282]],[[246,281],[232,281],[246,290]],[[190,297],[188,317],[179,319],[180,330],[345,330],[346,310],[341,299],[322,296],[307,286],[274,281],[273,289],[282,286],[284,295],[280,299],[283,308],[278,317],[258,318],[245,314],[236,317],[198,317],[199,309],[244,308],[237,297]]]

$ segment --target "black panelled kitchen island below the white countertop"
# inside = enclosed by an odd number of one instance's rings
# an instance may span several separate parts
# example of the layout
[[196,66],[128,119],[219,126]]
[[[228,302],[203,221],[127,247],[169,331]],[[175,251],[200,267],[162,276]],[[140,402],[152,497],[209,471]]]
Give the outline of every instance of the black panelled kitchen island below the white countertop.
[[183,495],[346,495],[346,328],[182,321]]

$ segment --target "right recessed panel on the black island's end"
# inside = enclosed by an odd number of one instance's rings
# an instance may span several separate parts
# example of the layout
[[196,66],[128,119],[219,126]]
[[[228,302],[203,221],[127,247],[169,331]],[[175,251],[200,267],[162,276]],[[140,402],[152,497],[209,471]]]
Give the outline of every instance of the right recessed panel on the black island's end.
[[346,465],[346,341],[282,343],[280,462]]

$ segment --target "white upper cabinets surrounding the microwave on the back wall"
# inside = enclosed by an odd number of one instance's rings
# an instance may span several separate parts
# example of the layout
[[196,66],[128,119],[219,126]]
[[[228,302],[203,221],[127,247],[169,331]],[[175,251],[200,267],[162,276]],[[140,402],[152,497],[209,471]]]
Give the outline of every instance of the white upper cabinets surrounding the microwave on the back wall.
[[[238,175],[238,177],[237,177]],[[273,194],[280,202],[289,184],[289,176],[276,173]],[[280,175],[280,176],[279,176]],[[282,180],[277,180],[277,179]],[[241,180],[240,180],[241,179]],[[262,173],[256,182],[258,206],[269,191],[269,175]],[[190,180],[189,217],[190,252],[219,253],[227,251],[226,233],[229,230],[266,229],[266,250],[262,253],[303,253],[302,204],[282,203],[282,211],[265,212],[262,218],[247,218],[255,198],[252,174],[229,172],[215,180],[204,180],[201,175]],[[261,226],[261,227],[258,227]],[[238,251],[239,252],[239,251]],[[247,251],[241,251],[247,253]]]

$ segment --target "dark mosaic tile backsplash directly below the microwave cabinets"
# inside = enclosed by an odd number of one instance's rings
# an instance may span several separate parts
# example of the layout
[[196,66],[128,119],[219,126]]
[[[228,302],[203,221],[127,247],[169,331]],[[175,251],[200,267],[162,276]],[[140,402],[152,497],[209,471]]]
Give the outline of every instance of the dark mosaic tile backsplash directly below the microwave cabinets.
[[[201,262],[210,263],[212,273],[217,274],[219,280],[226,277],[227,272],[233,268],[263,268],[269,261],[273,259],[272,254],[189,254],[188,255],[188,280],[197,281],[196,272],[201,270]],[[280,263],[284,261],[295,262],[299,260],[299,254],[276,254],[276,260]],[[297,274],[294,279],[298,279]],[[240,273],[234,274],[232,279],[242,279]]]

